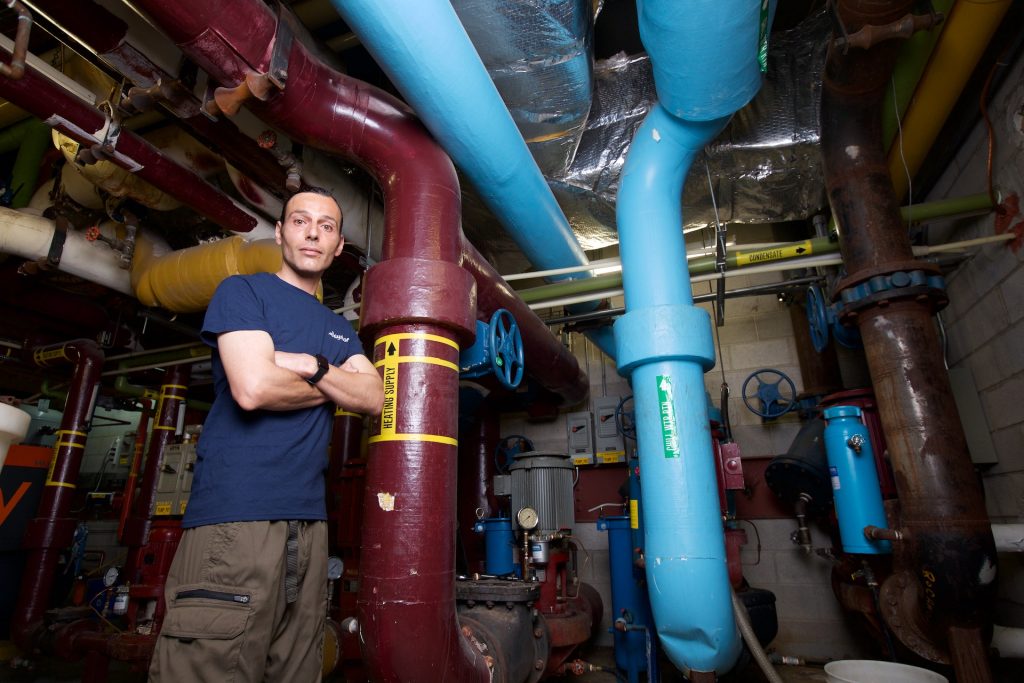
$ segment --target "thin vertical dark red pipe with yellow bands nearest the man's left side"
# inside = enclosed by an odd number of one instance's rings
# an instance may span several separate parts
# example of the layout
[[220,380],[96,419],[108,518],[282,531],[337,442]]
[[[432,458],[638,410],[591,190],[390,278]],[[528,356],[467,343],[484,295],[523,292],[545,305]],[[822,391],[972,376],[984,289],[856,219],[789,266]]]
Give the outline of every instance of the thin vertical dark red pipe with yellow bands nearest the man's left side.
[[[190,376],[191,366],[171,366],[167,369],[164,383],[160,386],[153,436],[150,437],[150,447],[145,454],[145,469],[142,470],[142,483],[139,486],[138,498],[132,506],[131,515],[125,524],[123,543],[130,550],[141,548],[148,542],[150,524],[157,504],[157,483],[160,481],[160,471],[164,465],[164,451],[174,442],[178,415],[188,398]],[[128,557],[134,557],[134,553],[129,552]],[[135,583],[137,581],[135,571],[138,567],[125,568],[128,581]]]

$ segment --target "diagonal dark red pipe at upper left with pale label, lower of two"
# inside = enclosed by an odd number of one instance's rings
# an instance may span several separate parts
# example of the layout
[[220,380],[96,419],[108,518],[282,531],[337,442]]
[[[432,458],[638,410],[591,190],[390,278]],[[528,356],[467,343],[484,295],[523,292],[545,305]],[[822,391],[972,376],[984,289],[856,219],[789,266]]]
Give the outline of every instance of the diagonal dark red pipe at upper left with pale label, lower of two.
[[[98,110],[54,85],[32,67],[16,81],[0,77],[0,97],[88,147],[97,143],[92,133],[105,122]],[[256,218],[234,206],[226,195],[130,131],[121,131],[113,161],[129,170],[138,167],[135,172],[140,178],[225,229],[248,232],[256,227]]]

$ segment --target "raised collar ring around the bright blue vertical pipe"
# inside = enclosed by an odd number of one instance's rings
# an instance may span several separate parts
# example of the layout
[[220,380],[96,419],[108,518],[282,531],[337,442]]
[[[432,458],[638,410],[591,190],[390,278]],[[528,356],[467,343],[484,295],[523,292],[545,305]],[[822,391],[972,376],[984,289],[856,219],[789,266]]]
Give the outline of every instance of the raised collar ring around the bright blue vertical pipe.
[[715,367],[711,315],[689,304],[669,304],[631,310],[615,321],[615,357],[618,372],[650,362],[677,360]]

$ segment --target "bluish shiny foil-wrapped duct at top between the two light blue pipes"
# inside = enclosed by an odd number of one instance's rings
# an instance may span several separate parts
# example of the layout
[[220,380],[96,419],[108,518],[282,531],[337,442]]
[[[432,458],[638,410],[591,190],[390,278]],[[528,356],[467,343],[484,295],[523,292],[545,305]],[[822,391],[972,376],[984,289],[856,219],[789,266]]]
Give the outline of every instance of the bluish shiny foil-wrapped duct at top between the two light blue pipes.
[[453,0],[545,175],[565,172],[590,112],[590,0]]

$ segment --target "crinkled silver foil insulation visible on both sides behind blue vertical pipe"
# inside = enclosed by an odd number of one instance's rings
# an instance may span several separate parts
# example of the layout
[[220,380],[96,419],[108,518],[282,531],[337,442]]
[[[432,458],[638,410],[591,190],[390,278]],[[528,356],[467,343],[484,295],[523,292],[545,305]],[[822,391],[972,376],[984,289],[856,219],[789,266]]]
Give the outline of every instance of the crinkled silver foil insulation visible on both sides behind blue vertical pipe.
[[[772,34],[760,92],[708,146],[723,222],[803,220],[826,206],[818,110],[829,32],[822,12]],[[575,158],[562,176],[549,178],[585,249],[617,242],[611,217],[618,177],[656,97],[646,54],[595,65],[594,102]],[[686,179],[683,220],[688,230],[715,224],[702,159]]]

